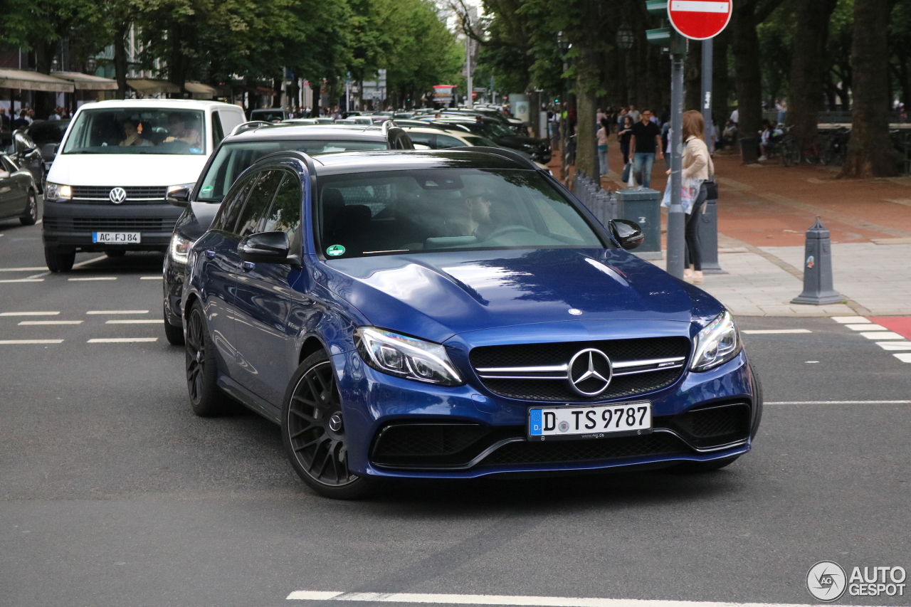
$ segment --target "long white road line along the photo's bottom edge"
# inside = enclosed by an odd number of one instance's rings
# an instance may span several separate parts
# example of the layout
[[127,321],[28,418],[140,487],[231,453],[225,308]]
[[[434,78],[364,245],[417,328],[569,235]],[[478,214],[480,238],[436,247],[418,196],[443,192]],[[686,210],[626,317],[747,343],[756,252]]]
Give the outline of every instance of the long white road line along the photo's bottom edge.
[[520,605],[523,607],[810,607],[772,602],[648,601],[564,596],[507,596],[502,594],[417,594],[415,592],[296,591],[289,601],[419,602],[450,605]]

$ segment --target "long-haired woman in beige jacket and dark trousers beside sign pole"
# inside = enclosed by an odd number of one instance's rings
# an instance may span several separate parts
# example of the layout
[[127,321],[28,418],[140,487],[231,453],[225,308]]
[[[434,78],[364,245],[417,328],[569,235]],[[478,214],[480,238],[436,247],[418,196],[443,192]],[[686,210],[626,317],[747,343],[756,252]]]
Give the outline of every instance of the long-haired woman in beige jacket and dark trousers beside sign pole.
[[[684,184],[687,180],[691,180],[691,187],[698,191],[687,211],[684,231],[686,249],[683,257],[683,280],[697,284],[705,282],[702,274],[702,242],[699,238],[699,224],[707,194],[705,181],[715,174],[715,165],[711,162],[709,149],[702,140],[704,130],[705,122],[701,112],[695,109],[683,112],[682,177]],[[668,172],[670,173],[670,170]],[[690,269],[691,264],[692,269]]]

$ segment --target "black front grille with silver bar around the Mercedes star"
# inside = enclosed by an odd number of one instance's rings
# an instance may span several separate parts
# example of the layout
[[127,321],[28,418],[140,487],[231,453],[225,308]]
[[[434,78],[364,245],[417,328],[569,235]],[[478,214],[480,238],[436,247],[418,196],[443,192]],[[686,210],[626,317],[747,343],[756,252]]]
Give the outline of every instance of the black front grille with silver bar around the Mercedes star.
[[[567,377],[570,360],[586,349],[607,355],[609,386],[595,396],[578,394]],[[498,396],[532,401],[592,402],[637,396],[673,384],[690,354],[685,337],[651,337],[559,344],[489,345],[469,354],[481,383]]]

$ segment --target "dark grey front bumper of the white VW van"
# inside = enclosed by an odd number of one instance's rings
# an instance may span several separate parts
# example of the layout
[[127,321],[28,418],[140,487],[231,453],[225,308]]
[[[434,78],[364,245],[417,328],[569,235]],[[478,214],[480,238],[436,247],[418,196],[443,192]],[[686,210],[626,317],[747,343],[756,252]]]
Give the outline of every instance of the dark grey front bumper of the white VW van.
[[[182,209],[160,204],[84,204],[45,201],[42,236],[45,246],[93,252],[166,251]],[[94,231],[138,231],[137,244],[92,242]]]

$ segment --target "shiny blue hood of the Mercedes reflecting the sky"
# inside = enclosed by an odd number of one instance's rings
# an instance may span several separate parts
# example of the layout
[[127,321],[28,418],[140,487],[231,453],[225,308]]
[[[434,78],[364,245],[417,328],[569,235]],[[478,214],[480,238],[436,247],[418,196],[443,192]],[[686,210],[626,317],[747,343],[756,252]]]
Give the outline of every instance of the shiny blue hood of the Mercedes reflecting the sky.
[[[327,260],[322,268],[317,280],[369,323],[435,342],[519,324],[689,323],[692,293],[703,293],[622,250],[418,253]],[[703,294],[711,300],[701,304],[711,308],[705,314],[717,314],[721,304]]]

